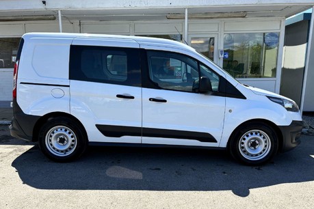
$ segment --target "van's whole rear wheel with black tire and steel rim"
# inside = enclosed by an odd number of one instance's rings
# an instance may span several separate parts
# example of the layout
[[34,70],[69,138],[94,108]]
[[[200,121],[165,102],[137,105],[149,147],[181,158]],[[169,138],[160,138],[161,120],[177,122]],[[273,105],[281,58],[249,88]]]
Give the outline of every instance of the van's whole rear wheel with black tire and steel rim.
[[73,161],[85,152],[88,139],[81,124],[68,117],[51,117],[40,128],[40,150],[53,161]]

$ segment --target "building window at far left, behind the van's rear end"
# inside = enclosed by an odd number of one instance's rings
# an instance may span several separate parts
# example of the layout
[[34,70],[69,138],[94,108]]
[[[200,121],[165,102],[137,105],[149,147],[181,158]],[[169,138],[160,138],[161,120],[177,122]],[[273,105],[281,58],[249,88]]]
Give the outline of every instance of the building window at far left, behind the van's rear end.
[[14,68],[21,38],[0,38],[0,68]]

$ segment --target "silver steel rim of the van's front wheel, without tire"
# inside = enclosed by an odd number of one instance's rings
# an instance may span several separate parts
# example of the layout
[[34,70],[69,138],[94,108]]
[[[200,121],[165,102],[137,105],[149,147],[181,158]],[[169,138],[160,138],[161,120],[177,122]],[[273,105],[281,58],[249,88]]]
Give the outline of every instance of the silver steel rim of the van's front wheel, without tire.
[[262,130],[250,130],[239,141],[239,151],[250,161],[259,161],[269,152],[272,143],[270,137]]

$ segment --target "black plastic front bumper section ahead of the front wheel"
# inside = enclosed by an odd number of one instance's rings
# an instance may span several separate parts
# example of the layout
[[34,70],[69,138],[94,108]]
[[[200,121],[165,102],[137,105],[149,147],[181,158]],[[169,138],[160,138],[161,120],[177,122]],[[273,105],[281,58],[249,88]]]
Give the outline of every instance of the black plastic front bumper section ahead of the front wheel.
[[302,121],[293,120],[289,126],[278,126],[283,135],[283,146],[280,152],[287,152],[301,143]]

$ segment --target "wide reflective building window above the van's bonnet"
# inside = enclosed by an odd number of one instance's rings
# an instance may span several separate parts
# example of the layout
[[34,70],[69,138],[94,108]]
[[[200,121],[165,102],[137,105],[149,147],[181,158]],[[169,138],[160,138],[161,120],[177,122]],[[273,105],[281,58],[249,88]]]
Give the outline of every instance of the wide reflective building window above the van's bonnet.
[[235,78],[276,76],[278,33],[227,33],[223,68]]

